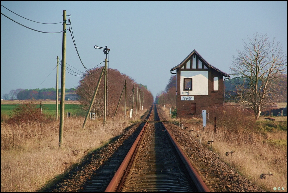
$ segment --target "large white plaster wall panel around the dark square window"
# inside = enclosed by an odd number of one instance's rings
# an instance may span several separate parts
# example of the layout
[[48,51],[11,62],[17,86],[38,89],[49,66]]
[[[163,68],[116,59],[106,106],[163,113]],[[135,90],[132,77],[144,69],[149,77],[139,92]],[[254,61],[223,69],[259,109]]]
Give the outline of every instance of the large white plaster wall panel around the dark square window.
[[[181,71],[181,95],[208,95],[208,71]],[[184,91],[184,78],[192,78],[192,91]]]

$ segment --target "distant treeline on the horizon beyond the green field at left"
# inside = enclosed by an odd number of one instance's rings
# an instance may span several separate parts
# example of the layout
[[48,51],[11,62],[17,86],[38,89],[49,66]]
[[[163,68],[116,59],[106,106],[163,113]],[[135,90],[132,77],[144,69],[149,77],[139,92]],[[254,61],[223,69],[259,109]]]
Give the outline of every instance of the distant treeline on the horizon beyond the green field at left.
[[[60,90],[58,93],[60,93]],[[75,88],[65,89],[65,92],[75,92]],[[43,88],[43,89],[25,89],[21,90],[17,94],[18,100],[38,100],[38,99],[51,99],[56,100],[56,89],[55,88]]]

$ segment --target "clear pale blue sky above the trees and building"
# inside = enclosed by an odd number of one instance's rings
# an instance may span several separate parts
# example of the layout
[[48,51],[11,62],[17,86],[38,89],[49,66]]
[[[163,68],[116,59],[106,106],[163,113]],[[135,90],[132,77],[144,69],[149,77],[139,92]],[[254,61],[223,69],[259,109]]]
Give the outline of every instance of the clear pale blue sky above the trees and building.
[[[228,74],[236,49],[242,50],[243,40],[253,33],[267,34],[270,40],[275,37],[287,54],[287,1],[1,1],[1,5],[42,23],[61,22],[62,10],[66,10],[84,65],[92,68],[104,61],[103,50],[94,45],[107,45],[109,68],[147,85],[154,98],[165,89],[170,69],[194,49]],[[62,24],[37,24],[2,6],[1,13],[36,30],[62,31]],[[68,32],[66,46],[66,63],[85,71]],[[1,96],[11,89],[56,87],[57,56],[62,59],[62,33],[39,33],[1,15]],[[65,87],[76,87],[79,80],[66,73]]]

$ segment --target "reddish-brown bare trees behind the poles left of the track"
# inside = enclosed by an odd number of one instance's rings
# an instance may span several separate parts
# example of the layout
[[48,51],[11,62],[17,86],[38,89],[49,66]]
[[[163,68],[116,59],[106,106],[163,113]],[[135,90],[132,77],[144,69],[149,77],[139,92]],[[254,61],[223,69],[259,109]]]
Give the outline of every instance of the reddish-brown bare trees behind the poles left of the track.
[[[82,104],[83,110],[87,111],[92,97],[94,95],[94,91],[96,89],[99,76],[101,74],[101,69],[96,68],[90,70],[91,74],[85,74],[80,81],[79,85],[77,86],[77,94],[80,96],[80,102]],[[136,101],[137,101],[137,88],[138,88],[138,102],[139,102],[139,93],[144,93],[144,108],[150,108],[152,103],[154,102],[153,95],[149,90],[147,90],[147,86],[142,84],[137,84],[134,79],[131,79],[126,74],[121,74],[117,69],[110,68],[108,70],[108,82],[107,82],[107,112],[108,116],[113,116],[115,110],[118,105],[118,101],[120,99],[120,95],[122,93],[123,87],[125,85],[125,80],[127,81],[127,109],[132,109],[133,105],[133,86],[135,85],[134,89],[134,109],[133,113],[136,112]],[[140,90],[140,91],[139,91]],[[102,77],[101,83],[99,85],[99,89],[94,100],[94,104],[92,106],[91,112],[95,112],[96,117],[103,116],[103,105],[104,105],[104,76]],[[141,97],[142,98],[142,97]],[[142,100],[142,99],[141,99]],[[142,105],[142,104],[141,104]],[[125,90],[122,95],[120,106],[118,108],[118,116],[123,116],[125,109]],[[130,112],[130,111],[129,111]],[[127,113],[127,112],[126,112]]]

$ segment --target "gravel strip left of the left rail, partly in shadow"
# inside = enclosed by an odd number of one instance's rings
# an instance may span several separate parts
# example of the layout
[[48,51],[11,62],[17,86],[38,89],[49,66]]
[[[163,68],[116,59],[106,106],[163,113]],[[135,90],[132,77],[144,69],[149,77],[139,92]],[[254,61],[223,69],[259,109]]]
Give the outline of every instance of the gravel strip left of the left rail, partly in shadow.
[[[69,173],[57,181],[53,186],[41,191],[85,191],[85,188],[89,186],[90,182],[97,179],[100,179],[102,184],[101,187],[97,187],[98,189],[95,189],[94,191],[104,191],[112,179],[114,171],[121,165],[122,160],[128,153],[144,124],[145,123],[139,122],[129,126],[125,129],[124,133],[114,137],[111,142],[96,151],[89,153],[81,164],[69,171]],[[111,168],[111,172],[107,176],[107,169],[105,170],[105,166],[110,163],[114,163],[115,167]],[[105,172],[103,172],[103,170],[105,170]]]

